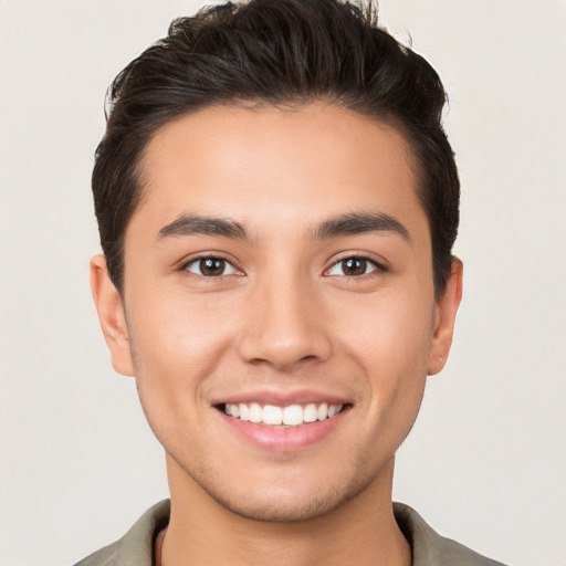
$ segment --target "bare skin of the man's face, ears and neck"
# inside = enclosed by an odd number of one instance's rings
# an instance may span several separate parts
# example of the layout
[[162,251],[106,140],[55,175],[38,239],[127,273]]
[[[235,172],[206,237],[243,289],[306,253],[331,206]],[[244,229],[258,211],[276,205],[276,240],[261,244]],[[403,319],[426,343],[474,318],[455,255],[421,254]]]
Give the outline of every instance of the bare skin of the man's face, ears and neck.
[[[136,377],[167,454],[163,564],[410,564],[394,458],[447,360],[462,266],[436,300],[406,140],[323,103],[209,108],[161,128],[143,170],[123,300],[103,256],[91,269],[114,368]],[[344,213],[387,214],[407,234],[315,237]],[[184,214],[229,219],[247,238],[160,235]],[[200,274],[201,254],[233,269]],[[344,275],[347,258],[367,258],[366,271]],[[250,443],[217,407],[305,389],[348,410],[298,450]]]

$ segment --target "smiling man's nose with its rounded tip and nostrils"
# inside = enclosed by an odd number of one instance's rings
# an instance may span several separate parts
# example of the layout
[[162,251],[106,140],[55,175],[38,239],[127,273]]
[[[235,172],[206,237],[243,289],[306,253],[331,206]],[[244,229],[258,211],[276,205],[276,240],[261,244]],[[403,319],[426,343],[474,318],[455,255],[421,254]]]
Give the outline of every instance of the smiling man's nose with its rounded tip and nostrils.
[[265,282],[249,297],[239,340],[240,356],[247,363],[293,371],[331,356],[322,301],[316,290],[297,279]]

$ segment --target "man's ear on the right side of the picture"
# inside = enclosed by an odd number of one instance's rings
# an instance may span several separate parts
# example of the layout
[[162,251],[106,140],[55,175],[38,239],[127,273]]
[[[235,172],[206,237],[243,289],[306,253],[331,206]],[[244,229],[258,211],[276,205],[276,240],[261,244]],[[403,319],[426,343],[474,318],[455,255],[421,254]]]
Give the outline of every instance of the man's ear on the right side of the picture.
[[447,289],[436,306],[434,334],[429,350],[429,376],[441,371],[448,360],[454,334],[455,313],[462,300],[462,262],[453,258]]

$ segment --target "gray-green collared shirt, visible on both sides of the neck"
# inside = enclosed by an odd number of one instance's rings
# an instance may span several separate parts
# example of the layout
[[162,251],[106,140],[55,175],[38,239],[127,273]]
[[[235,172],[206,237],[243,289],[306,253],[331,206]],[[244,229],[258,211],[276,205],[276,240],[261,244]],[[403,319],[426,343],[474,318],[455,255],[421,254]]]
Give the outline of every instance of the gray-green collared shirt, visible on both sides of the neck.
[[[75,566],[153,566],[155,539],[169,522],[169,500],[157,503],[123,538]],[[397,524],[411,545],[412,566],[503,566],[440,536],[408,505],[394,503],[394,512]]]

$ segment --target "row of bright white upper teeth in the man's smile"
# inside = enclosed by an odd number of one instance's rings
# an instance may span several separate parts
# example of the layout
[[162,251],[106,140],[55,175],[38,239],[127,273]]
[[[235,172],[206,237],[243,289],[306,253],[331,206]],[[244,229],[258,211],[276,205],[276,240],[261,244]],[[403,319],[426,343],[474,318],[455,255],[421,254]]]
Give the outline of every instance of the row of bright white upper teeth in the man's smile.
[[287,427],[297,427],[305,422],[315,422],[316,420],[326,420],[336,417],[343,405],[329,405],[314,402],[302,407],[301,405],[290,405],[287,407],[275,407],[265,405],[263,408],[256,403],[227,403],[224,412],[240,420],[259,422],[270,426],[285,424]]

